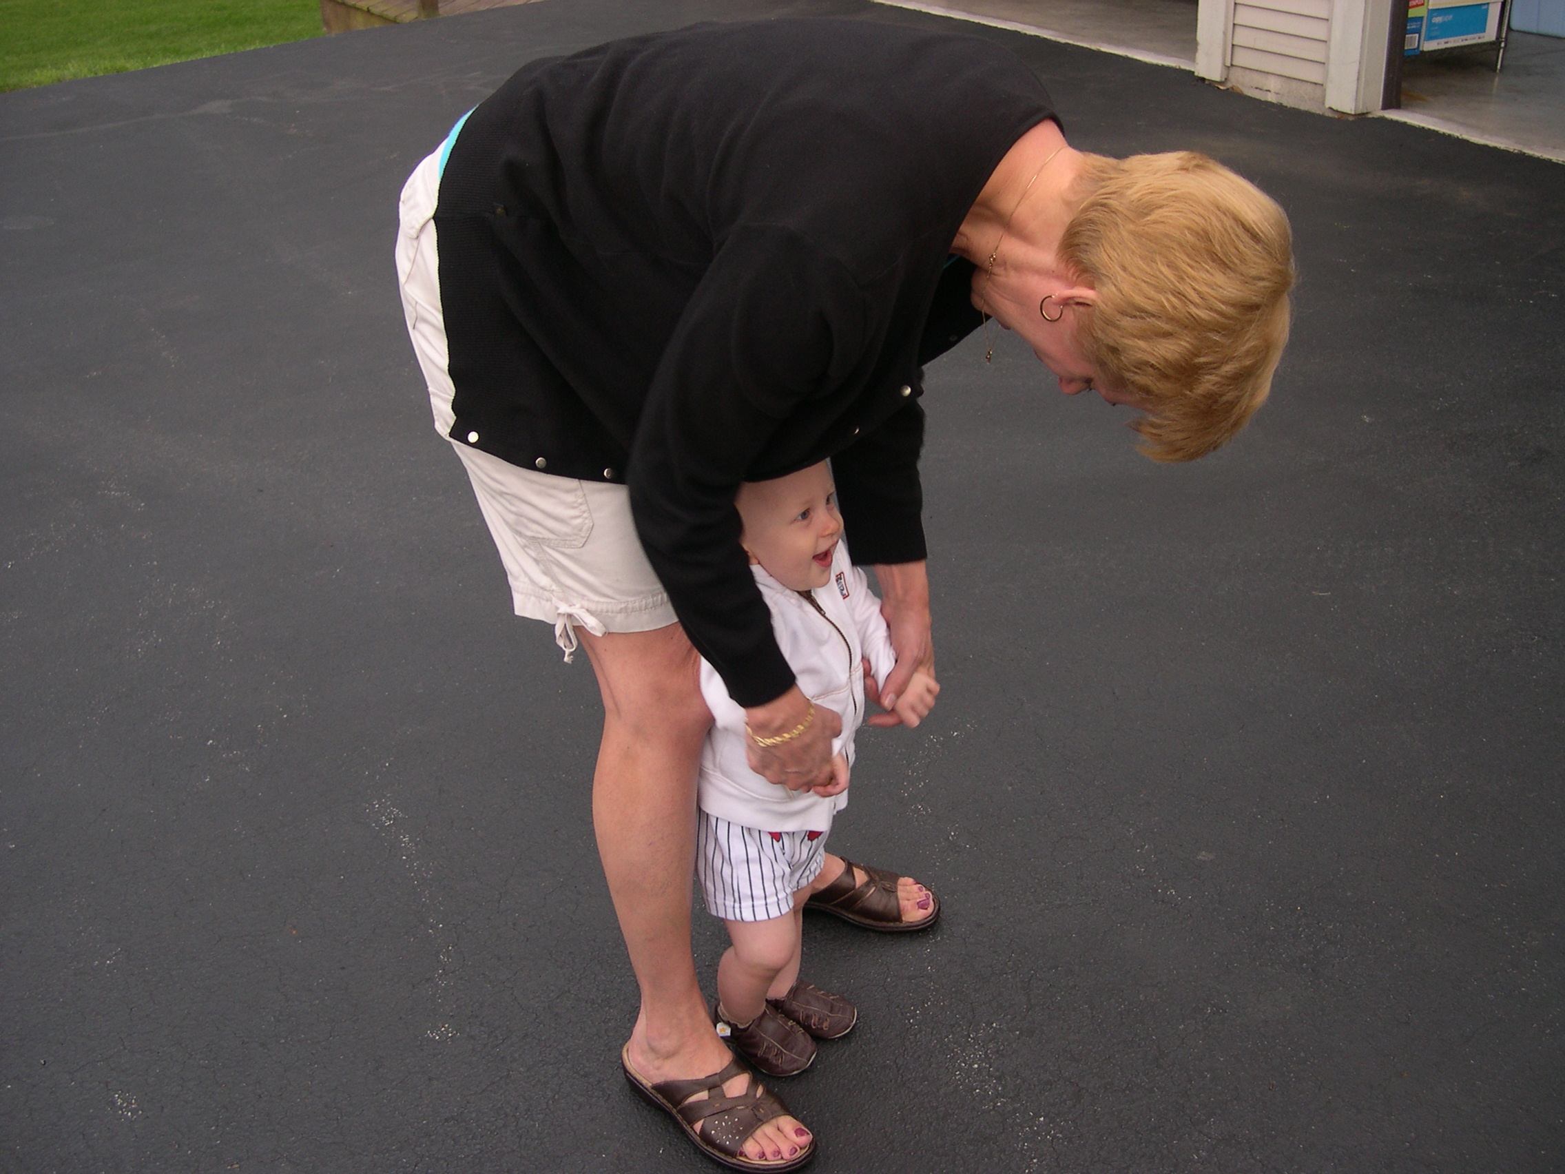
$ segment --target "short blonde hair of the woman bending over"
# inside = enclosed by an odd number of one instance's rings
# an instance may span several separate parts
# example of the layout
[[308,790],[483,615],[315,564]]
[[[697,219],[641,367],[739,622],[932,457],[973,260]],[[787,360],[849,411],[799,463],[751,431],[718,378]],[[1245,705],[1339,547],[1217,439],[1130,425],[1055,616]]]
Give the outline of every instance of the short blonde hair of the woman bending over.
[[1086,155],[1074,194],[1061,257],[1097,288],[1083,354],[1146,405],[1142,452],[1211,452],[1265,402],[1288,341],[1288,216],[1189,150]]

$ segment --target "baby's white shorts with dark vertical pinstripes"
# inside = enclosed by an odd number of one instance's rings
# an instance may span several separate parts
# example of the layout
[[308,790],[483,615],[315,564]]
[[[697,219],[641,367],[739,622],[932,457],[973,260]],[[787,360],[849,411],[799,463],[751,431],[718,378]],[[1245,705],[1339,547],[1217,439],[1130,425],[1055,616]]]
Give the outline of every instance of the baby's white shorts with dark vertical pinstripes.
[[695,875],[714,917],[767,922],[792,913],[793,894],[825,862],[825,831],[761,831],[700,812]]

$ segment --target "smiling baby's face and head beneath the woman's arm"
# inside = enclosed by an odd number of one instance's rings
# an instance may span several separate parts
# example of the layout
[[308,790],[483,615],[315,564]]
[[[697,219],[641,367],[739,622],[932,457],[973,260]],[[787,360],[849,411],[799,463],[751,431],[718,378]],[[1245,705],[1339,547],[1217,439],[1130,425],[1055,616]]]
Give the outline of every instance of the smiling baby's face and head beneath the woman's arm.
[[751,562],[795,592],[831,582],[842,515],[825,462],[776,481],[747,481],[736,504],[745,521],[740,542]]

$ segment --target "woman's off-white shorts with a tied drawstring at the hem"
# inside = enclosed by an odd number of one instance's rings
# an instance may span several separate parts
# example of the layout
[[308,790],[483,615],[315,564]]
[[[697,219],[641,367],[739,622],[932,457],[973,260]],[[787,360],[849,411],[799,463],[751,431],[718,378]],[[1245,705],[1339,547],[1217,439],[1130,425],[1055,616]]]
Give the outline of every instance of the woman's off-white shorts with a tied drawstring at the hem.
[[[435,203],[440,152],[413,169],[402,188],[396,241],[398,282],[407,333],[429,385],[435,430],[449,440],[455,387],[448,371],[446,319],[440,308]],[[624,485],[556,477],[452,441],[468,470],[484,521],[510,579],[516,615],[554,625],[571,659],[574,628],[593,636],[648,632],[676,623],[631,518]]]

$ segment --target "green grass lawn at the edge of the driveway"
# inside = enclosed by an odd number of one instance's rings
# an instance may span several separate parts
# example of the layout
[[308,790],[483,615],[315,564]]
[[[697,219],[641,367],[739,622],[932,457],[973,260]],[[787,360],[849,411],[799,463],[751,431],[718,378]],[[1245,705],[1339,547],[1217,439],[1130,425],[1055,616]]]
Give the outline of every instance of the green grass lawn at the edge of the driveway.
[[0,0],[0,91],[308,36],[318,0]]

